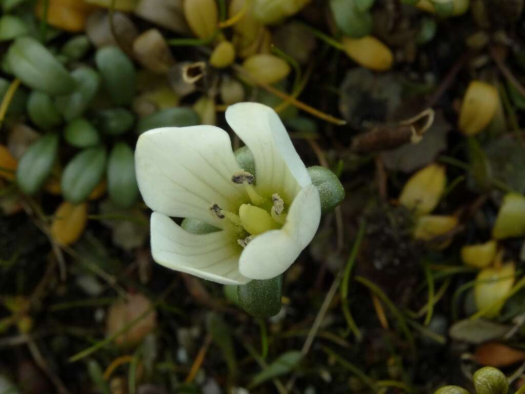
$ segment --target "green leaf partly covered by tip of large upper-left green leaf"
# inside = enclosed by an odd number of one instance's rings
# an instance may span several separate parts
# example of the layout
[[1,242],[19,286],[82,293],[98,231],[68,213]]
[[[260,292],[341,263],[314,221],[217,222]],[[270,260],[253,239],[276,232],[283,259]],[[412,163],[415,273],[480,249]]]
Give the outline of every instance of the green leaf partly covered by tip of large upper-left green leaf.
[[100,86],[100,77],[91,67],[79,67],[71,72],[71,77],[77,82],[75,91],[56,98],[57,108],[67,121],[78,118],[86,111]]

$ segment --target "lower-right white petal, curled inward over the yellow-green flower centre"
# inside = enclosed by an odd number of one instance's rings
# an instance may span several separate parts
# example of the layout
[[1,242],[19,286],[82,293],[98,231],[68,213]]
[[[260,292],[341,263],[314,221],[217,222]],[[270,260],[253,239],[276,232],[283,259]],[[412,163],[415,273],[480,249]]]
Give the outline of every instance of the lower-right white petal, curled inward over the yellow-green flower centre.
[[244,248],[240,273],[251,279],[270,279],[285,272],[310,243],[320,220],[319,191],[310,184],[293,200],[280,230],[260,234]]

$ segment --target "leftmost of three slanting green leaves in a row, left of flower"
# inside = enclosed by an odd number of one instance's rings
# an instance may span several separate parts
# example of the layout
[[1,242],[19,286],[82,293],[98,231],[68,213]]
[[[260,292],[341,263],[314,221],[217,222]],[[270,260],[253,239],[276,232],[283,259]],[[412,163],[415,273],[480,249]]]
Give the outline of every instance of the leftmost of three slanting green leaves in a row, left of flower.
[[49,133],[35,141],[20,159],[16,182],[25,194],[34,194],[45,182],[57,158],[58,134]]

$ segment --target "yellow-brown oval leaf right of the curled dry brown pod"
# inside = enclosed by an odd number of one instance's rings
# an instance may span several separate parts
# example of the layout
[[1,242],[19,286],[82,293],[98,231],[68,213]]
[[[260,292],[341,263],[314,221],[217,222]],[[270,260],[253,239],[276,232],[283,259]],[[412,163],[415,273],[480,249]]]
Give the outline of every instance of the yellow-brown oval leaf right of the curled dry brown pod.
[[458,128],[467,136],[485,129],[498,108],[498,90],[481,81],[471,81],[468,85],[461,111]]

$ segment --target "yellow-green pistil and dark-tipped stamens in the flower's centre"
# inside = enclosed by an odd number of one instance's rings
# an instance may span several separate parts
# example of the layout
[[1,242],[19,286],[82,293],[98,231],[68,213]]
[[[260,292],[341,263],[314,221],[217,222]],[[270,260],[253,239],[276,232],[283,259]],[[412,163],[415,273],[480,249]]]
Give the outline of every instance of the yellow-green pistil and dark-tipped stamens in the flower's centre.
[[274,193],[270,198],[264,198],[255,190],[255,177],[247,171],[233,174],[232,182],[242,184],[250,203],[241,204],[238,214],[225,211],[216,203],[210,207],[210,212],[224,221],[225,227],[239,234],[237,242],[246,245],[255,236],[269,230],[280,229],[286,222],[285,202],[279,194]]

